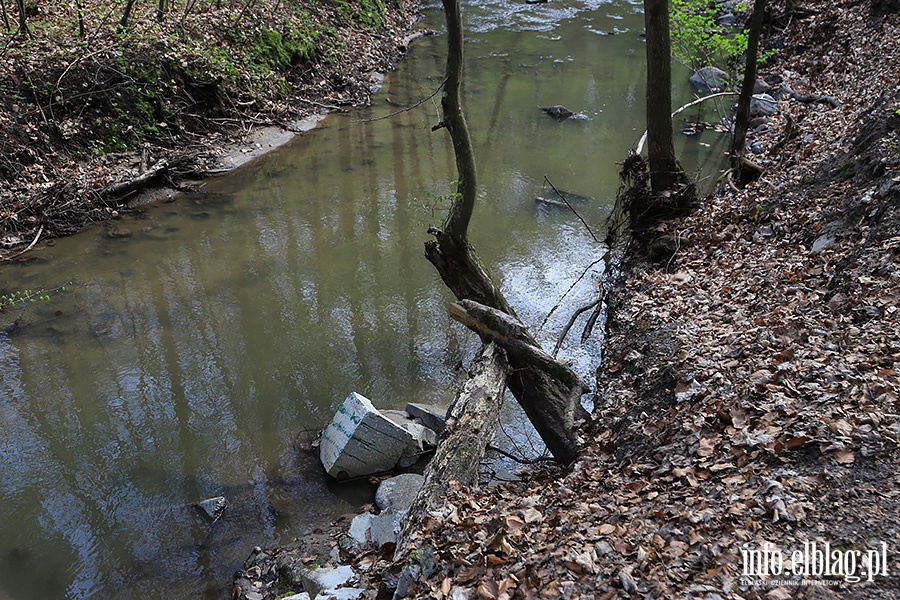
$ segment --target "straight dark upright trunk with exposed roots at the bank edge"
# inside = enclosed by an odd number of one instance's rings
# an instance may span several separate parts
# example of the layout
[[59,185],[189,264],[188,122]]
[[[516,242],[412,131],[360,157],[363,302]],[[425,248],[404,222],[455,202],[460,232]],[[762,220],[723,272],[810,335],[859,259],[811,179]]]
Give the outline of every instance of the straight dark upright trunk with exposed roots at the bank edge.
[[672,51],[667,0],[644,0],[647,29],[647,157],[650,188],[671,189],[681,168],[672,141]]

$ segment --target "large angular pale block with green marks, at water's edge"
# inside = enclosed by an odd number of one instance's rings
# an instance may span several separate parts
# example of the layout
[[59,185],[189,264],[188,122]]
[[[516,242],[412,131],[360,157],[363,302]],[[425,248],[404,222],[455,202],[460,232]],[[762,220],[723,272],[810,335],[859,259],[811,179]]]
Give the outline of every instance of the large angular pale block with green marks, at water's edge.
[[412,441],[406,429],[353,392],[322,432],[319,459],[325,471],[339,480],[384,473],[397,465]]

